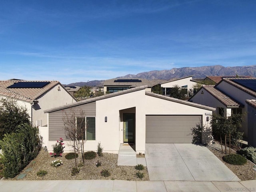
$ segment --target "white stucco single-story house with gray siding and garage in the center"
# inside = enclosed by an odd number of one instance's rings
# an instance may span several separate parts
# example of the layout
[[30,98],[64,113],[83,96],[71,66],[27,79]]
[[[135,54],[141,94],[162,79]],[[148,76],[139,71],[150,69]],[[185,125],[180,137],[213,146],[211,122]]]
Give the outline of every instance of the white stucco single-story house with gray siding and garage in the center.
[[[104,152],[118,153],[120,144],[132,143],[137,153],[145,153],[145,143],[191,143],[192,128],[197,126],[202,128],[202,143],[211,142],[209,116],[215,108],[147,89],[147,86],[130,88],[45,110],[48,149],[58,138],[66,140],[62,118],[71,112],[77,114],[74,120],[82,118],[87,122],[85,150],[97,150],[100,142]],[[80,110],[85,116],[80,116]],[[72,149],[67,144],[65,150]]]

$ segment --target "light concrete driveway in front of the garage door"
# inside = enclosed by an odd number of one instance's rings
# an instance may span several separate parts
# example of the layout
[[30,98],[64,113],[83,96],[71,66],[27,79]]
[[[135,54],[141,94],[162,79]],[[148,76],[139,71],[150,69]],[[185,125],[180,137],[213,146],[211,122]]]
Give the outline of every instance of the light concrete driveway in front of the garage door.
[[150,181],[240,181],[208,148],[194,144],[146,144]]

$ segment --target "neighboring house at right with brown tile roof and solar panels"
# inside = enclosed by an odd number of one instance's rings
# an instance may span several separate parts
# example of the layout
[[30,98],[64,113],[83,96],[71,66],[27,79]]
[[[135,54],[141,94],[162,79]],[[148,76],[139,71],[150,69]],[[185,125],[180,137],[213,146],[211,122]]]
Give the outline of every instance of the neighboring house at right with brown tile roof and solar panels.
[[248,124],[250,121],[248,116],[250,109],[246,104],[246,100],[255,99],[256,78],[245,77],[222,78],[222,80],[215,86],[202,86],[189,101],[214,107],[216,108],[216,114],[222,116],[230,116],[233,113],[246,113],[241,131],[244,132],[244,139],[248,140],[248,145],[252,145],[255,141],[249,139],[252,130]]

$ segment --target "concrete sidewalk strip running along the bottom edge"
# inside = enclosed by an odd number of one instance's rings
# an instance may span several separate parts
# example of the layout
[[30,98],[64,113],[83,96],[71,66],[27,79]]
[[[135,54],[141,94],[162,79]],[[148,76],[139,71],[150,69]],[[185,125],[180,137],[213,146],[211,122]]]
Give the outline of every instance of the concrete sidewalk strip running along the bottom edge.
[[256,180],[221,181],[123,181],[123,180],[0,180],[2,192],[227,192],[256,191]]

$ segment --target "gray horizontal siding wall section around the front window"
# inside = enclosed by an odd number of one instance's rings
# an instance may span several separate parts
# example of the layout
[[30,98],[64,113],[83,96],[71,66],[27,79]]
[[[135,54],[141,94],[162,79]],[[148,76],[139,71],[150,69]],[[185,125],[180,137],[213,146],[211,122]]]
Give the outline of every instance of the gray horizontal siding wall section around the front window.
[[70,117],[73,112],[80,116],[81,110],[85,116],[96,116],[96,102],[49,113],[49,141],[56,141],[60,137],[66,140],[63,118],[67,118],[66,114]]

